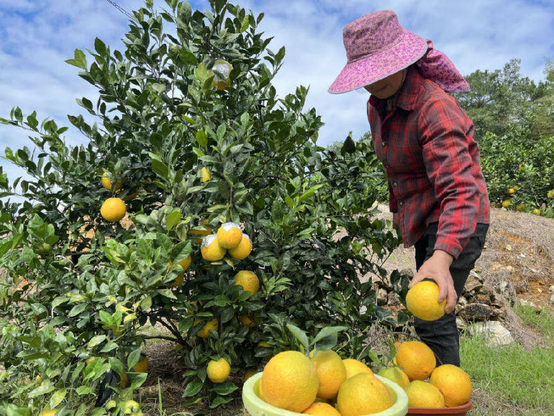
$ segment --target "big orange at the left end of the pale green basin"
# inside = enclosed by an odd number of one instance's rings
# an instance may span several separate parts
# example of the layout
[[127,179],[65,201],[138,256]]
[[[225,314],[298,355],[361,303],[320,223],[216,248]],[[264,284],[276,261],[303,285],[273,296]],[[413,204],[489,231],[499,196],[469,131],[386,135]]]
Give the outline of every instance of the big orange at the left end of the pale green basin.
[[263,400],[301,413],[314,402],[319,389],[316,367],[298,351],[280,352],[265,365],[260,383]]

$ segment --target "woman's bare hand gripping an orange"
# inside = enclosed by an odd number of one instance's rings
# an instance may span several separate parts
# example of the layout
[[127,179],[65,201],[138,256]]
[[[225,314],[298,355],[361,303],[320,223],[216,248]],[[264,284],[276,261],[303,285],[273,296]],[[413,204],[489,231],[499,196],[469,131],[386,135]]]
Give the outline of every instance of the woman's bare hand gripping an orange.
[[452,281],[452,275],[450,274],[450,265],[454,261],[447,252],[443,250],[435,250],[433,255],[425,261],[412,277],[408,288],[411,288],[416,283],[419,283],[423,279],[433,279],[438,284],[438,303],[446,301],[445,311],[450,313],[454,311],[456,302],[458,302],[458,295],[454,289],[454,281]]

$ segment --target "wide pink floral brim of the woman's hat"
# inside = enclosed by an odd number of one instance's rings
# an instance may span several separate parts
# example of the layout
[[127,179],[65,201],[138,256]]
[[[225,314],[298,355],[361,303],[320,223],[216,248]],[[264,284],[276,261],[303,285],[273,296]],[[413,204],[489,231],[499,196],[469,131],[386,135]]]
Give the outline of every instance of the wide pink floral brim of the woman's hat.
[[402,29],[400,42],[391,48],[346,64],[328,92],[343,94],[354,91],[401,71],[422,58],[427,52],[427,41]]

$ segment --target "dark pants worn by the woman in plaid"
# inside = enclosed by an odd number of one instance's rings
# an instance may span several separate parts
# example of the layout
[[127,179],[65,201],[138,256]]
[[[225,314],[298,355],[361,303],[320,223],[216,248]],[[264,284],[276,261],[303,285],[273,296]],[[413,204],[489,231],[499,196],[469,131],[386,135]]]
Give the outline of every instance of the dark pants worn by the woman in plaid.
[[[454,288],[459,297],[462,295],[463,286],[475,266],[475,261],[481,256],[481,250],[485,244],[485,236],[488,224],[478,223],[470,242],[450,266],[450,274],[454,281]],[[429,228],[415,243],[415,268],[419,270],[421,265],[433,255],[437,240],[438,223],[429,224]],[[460,340],[456,327],[456,313],[452,311],[435,321],[426,321],[420,318],[414,319],[415,332],[420,340],[429,346],[437,358],[437,366],[441,364],[454,364],[460,366]]]

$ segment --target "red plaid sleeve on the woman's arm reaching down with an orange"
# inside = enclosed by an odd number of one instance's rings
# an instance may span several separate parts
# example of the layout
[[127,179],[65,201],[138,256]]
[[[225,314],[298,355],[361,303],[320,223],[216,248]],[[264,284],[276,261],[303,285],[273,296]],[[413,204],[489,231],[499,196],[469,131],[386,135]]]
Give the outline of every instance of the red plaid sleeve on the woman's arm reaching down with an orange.
[[473,123],[454,98],[431,100],[418,121],[427,176],[440,202],[434,249],[456,259],[475,231],[478,186],[472,175],[469,137]]

